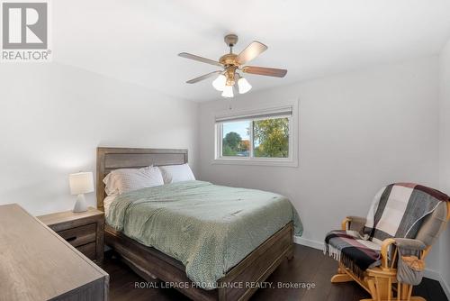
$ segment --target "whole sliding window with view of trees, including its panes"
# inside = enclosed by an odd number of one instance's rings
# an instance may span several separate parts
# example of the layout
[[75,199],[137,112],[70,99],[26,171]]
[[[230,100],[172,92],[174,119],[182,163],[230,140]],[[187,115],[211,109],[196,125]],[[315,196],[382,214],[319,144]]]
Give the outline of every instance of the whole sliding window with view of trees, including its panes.
[[293,105],[216,117],[217,163],[297,166]]

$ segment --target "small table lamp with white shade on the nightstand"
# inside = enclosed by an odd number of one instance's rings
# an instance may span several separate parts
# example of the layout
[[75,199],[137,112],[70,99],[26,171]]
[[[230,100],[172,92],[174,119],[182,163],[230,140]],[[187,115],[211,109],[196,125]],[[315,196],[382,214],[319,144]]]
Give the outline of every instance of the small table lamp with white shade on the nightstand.
[[87,211],[85,194],[94,191],[94,177],[92,172],[78,172],[68,175],[70,194],[76,196],[73,212]]

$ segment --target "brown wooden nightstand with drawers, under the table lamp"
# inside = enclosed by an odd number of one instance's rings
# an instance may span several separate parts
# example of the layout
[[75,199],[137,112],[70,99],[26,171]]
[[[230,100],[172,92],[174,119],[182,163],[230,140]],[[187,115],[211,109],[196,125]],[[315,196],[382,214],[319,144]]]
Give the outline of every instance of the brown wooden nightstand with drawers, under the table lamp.
[[93,207],[85,212],[65,211],[38,216],[42,223],[58,233],[90,260],[103,260],[104,214]]

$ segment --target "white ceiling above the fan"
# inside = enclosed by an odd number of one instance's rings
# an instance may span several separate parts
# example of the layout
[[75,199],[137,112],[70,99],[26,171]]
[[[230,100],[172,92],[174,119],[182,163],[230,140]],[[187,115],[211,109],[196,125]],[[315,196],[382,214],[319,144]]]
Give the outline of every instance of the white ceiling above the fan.
[[[210,59],[253,40],[268,50],[250,65],[287,68],[285,78],[248,75],[254,90],[350,69],[437,54],[450,37],[446,0],[52,1],[54,61],[195,101],[220,98]],[[252,91],[254,91],[252,90]],[[249,92],[251,93],[251,91]]]

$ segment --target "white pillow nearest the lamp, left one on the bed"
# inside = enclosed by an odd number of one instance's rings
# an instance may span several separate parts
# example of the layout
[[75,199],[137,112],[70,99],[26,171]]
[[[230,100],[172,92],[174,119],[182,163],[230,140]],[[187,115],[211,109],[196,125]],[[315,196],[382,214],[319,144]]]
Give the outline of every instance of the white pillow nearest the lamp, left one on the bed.
[[164,185],[161,171],[153,166],[142,169],[115,169],[103,179],[104,191],[108,196],[145,187]]

